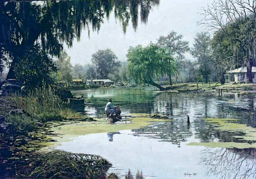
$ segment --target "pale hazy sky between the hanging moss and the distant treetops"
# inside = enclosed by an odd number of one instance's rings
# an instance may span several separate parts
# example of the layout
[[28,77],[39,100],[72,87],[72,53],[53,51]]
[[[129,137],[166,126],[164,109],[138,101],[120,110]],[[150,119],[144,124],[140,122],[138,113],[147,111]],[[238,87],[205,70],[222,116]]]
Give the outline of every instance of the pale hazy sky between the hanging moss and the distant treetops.
[[[67,53],[71,56],[71,63],[86,64],[90,63],[91,55],[99,49],[110,48],[118,56],[119,60],[126,60],[126,52],[130,46],[138,44],[147,45],[156,42],[161,35],[167,35],[174,30],[183,35],[184,40],[189,41],[192,47],[194,37],[197,32],[204,31],[203,27],[197,25],[197,21],[202,19],[198,13],[201,7],[207,6],[213,0],[160,0],[159,6],[152,8],[148,23],[142,24],[140,17],[136,32],[129,23],[126,34],[124,35],[119,21],[115,20],[112,12],[110,19],[104,19],[99,34],[90,30],[90,39],[88,31],[83,31],[80,42],[74,40],[73,47],[68,49]],[[189,54],[186,58],[191,59]]]

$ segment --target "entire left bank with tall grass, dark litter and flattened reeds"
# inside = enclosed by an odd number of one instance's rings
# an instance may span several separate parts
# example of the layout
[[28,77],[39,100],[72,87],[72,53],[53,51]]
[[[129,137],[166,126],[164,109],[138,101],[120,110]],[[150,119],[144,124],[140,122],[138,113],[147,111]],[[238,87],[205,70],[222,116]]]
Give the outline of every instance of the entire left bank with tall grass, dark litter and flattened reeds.
[[[38,153],[49,138],[50,121],[78,114],[51,88],[0,98],[0,178],[97,178],[111,165],[96,155]],[[81,116],[80,116],[81,117]]]

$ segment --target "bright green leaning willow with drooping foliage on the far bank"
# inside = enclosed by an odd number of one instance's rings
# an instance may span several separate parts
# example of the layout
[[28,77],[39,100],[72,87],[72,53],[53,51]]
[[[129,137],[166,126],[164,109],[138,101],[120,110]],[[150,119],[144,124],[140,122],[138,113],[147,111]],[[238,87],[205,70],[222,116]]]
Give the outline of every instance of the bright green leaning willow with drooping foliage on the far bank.
[[[126,55],[128,71],[137,83],[148,83],[158,87],[161,91],[165,88],[155,83],[153,79],[166,73],[166,61],[173,59],[166,54],[157,44],[150,43],[146,47],[138,45],[130,47]],[[171,66],[172,67],[172,66]]]

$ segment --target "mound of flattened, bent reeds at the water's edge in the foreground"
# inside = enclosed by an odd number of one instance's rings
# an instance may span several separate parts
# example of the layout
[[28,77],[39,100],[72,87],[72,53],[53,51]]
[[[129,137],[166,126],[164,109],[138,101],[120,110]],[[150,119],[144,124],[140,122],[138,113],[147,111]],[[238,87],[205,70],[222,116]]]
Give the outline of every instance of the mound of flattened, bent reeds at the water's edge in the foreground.
[[99,155],[79,154],[54,150],[33,153],[29,165],[30,178],[99,178],[112,164]]

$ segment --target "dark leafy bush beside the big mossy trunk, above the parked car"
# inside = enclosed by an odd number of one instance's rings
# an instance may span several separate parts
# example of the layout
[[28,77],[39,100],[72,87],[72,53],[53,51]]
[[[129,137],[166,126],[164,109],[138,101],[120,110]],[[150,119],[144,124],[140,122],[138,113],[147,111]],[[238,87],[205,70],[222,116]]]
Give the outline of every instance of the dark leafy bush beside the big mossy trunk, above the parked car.
[[18,60],[19,64],[14,66],[15,77],[25,85],[36,88],[53,82],[52,72],[56,72],[57,68],[53,59],[38,43],[27,48]]

